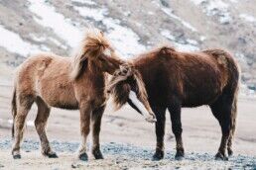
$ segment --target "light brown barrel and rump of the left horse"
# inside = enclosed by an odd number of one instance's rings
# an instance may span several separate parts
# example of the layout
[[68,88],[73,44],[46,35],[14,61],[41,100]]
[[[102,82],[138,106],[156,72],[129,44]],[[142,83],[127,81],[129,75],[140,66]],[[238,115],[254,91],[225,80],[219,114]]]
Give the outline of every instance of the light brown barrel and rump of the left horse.
[[67,57],[53,53],[33,55],[18,68],[18,92],[34,98],[41,97],[49,106],[77,109],[69,78],[70,69]]

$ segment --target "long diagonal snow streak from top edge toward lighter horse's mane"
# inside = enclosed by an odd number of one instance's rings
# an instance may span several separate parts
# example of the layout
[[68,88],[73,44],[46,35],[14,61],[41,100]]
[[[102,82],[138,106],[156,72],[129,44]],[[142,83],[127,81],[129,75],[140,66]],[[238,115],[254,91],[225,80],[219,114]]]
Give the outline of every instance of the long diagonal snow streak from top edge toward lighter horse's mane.
[[35,14],[34,20],[38,24],[51,28],[70,46],[78,44],[82,32],[72,26],[62,14],[57,13],[55,7],[47,4],[47,1],[44,0],[29,0],[29,2],[31,3],[29,10]]

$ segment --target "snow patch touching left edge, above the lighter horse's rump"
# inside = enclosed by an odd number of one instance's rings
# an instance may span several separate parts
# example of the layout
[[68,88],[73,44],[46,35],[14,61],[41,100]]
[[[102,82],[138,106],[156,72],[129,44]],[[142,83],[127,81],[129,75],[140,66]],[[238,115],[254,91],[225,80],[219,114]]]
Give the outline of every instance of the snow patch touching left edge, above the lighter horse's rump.
[[20,35],[5,29],[0,25],[0,46],[5,47],[10,52],[18,53],[23,56],[28,56],[31,53],[39,52],[39,46],[25,42]]

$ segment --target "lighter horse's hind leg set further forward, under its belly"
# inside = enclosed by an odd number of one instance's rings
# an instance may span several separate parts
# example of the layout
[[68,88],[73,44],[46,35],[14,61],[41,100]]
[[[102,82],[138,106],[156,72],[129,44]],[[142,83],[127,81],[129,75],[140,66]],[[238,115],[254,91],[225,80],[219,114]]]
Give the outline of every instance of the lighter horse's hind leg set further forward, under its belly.
[[58,156],[51,149],[46,133],[46,125],[50,115],[50,107],[41,98],[37,98],[36,103],[38,105],[38,115],[35,120],[35,127],[40,137],[42,154],[50,158],[56,158]]

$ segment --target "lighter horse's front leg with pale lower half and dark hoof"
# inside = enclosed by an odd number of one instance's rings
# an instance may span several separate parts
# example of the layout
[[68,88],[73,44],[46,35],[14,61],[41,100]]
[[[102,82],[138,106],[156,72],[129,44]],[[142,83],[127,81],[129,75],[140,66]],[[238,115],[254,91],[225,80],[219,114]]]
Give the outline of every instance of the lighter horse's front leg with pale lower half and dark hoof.
[[89,102],[80,103],[80,132],[81,132],[81,143],[78,150],[78,157],[80,160],[88,160],[86,153],[86,141],[89,133],[90,115],[92,112],[92,106]]

